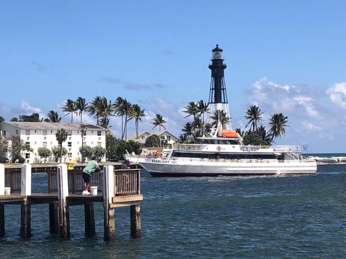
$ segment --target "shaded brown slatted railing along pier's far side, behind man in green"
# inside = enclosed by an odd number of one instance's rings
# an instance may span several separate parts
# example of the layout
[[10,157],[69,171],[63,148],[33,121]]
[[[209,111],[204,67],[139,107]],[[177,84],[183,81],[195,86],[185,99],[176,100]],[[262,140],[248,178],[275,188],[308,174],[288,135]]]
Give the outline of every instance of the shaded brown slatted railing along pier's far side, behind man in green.
[[[47,171],[48,174],[48,193],[57,192],[57,175],[56,171]],[[90,186],[97,186],[97,192],[102,192],[102,172],[95,172],[90,178]],[[67,170],[67,180],[69,182],[69,192],[72,194],[82,192],[84,180],[82,170]]]

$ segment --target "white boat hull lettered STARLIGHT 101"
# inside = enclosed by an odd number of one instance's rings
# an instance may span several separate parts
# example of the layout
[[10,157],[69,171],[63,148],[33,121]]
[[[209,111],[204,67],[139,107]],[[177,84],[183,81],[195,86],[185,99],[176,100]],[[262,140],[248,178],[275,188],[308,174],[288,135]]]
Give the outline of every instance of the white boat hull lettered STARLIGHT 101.
[[[125,155],[126,156],[126,155]],[[316,174],[316,162],[209,162],[146,159],[126,156],[152,176],[218,176],[218,175],[272,175],[272,174]]]

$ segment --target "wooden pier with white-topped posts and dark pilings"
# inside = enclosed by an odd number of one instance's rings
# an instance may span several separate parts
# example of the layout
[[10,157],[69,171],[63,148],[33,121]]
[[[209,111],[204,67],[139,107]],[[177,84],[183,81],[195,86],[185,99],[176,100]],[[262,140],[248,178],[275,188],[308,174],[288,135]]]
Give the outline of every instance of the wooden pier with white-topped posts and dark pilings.
[[[49,204],[49,231],[61,238],[70,237],[69,207],[84,205],[85,235],[95,234],[94,203],[102,202],[104,209],[104,239],[115,238],[114,208],[130,207],[130,235],[138,238],[140,226],[140,169],[117,170],[113,165],[103,166],[103,172],[95,173],[90,186],[98,186],[97,195],[81,195],[82,171],[67,170],[65,164],[56,171],[47,170],[47,193],[31,193],[30,164],[18,170],[5,170],[0,164],[0,238],[5,235],[4,206],[20,205],[20,236],[31,237],[31,205]],[[4,188],[11,187],[11,194],[4,195]],[[13,188],[13,189],[12,189]],[[34,216],[34,215],[33,215]]]

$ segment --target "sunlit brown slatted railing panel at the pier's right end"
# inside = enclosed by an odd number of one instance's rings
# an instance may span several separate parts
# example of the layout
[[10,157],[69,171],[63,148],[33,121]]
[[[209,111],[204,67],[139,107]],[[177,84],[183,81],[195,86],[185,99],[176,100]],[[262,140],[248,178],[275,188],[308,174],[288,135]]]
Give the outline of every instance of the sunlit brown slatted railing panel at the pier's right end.
[[140,194],[140,169],[114,170],[114,194]]

